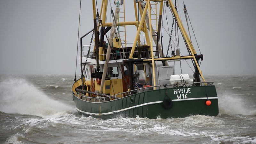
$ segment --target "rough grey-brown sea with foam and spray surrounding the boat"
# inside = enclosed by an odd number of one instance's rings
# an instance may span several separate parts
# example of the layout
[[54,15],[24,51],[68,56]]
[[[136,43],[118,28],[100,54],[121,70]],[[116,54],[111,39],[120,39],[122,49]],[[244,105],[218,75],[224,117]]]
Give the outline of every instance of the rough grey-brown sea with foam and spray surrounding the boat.
[[220,114],[171,119],[78,115],[73,76],[0,76],[0,143],[256,143],[256,76],[204,76]]

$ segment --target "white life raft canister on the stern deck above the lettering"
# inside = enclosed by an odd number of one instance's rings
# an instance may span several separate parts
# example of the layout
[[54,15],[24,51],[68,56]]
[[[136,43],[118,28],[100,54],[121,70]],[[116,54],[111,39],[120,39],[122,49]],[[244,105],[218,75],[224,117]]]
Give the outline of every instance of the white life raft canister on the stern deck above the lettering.
[[176,84],[188,84],[189,83],[189,76],[188,74],[180,74],[180,75],[171,75],[170,82],[172,85]]

